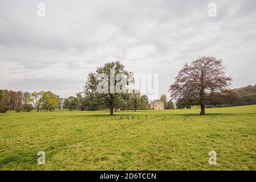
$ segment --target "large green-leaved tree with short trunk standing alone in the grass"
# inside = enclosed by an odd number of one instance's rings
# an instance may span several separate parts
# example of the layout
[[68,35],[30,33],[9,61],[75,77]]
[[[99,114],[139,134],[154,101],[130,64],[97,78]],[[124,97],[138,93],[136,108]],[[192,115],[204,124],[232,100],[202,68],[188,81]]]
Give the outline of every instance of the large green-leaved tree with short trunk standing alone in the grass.
[[[125,75],[128,79],[125,81],[124,77],[119,77],[120,75]],[[132,81],[131,75],[132,73],[125,70],[124,65],[119,61],[97,68],[88,75],[84,86],[87,104],[107,106],[110,115],[113,115],[115,104],[125,97],[128,85]]]

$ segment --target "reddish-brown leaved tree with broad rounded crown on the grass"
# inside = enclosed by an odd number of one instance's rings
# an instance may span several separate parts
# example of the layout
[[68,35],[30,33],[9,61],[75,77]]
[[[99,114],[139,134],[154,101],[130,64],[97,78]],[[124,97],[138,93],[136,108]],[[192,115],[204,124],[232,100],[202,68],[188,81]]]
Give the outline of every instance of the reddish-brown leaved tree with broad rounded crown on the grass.
[[225,76],[222,60],[215,57],[202,56],[186,63],[178,72],[175,81],[170,85],[170,96],[184,104],[200,105],[200,115],[205,115],[205,104],[210,104],[231,86],[231,77]]

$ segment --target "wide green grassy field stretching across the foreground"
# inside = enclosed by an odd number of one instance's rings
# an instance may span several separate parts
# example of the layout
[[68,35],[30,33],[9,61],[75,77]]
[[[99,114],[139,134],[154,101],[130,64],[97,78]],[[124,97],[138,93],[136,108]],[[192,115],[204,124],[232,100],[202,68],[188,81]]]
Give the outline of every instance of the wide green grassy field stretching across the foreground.
[[[1,170],[255,170],[256,105],[0,114]],[[217,164],[208,164],[208,152]],[[37,152],[46,152],[46,165]]]

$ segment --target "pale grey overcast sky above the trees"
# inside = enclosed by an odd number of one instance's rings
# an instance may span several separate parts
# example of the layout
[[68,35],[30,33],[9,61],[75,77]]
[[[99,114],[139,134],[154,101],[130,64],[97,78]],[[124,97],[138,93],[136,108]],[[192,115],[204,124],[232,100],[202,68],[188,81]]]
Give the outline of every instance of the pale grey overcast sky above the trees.
[[[40,2],[46,17],[37,14]],[[234,88],[254,85],[255,7],[255,0],[1,0],[0,89],[74,96],[89,72],[119,60],[128,71],[159,73],[159,93],[168,94],[182,65],[202,55],[224,60]]]

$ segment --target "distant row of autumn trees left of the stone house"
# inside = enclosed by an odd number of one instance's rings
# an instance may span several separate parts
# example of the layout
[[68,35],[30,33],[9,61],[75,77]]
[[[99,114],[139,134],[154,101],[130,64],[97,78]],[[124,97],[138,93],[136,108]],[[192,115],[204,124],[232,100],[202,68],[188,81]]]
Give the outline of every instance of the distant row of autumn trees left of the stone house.
[[[124,98],[115,100],[114,110],[137,110],[147,109],[149,99],[147,96],[140,96],[140,93],[127,94]],[[76,96],[60,98],[58,95],[48,92],[15,92],[13,90],[0,90],[0,113],[6,111],[29,112],[59,110],[104,110],[108,109],[106,104],[88,100],[83,92],[76,93]]]

